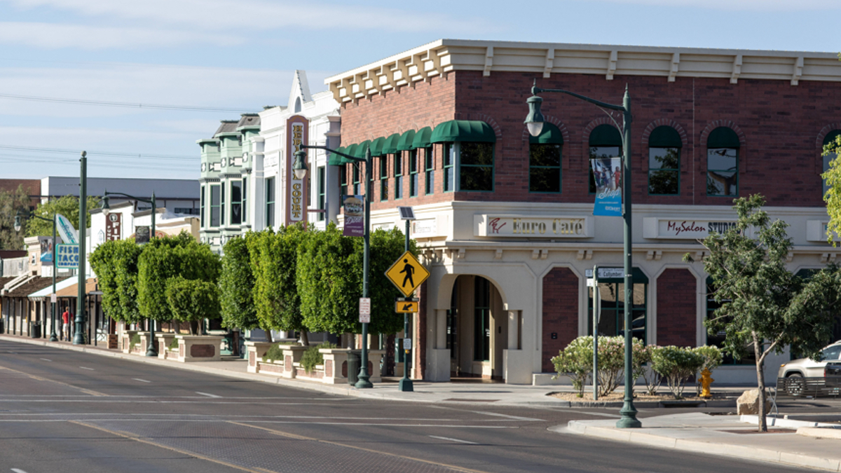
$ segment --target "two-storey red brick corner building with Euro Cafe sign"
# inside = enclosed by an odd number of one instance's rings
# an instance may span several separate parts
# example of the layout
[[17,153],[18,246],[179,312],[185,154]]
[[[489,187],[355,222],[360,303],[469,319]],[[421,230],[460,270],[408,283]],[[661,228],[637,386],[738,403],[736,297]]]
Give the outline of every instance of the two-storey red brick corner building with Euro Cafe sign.
[[[590,171],[593,157],[621,156],[621,116],[545,93],[547,125],[532,138],[535,81],[632,98],[635,337],[720,343],[702,325],[715,308],[707,275],[682,257],[702,258],[696,239],[735,221],[734,197],[764,194],[791,225],[792,270],[835,260],[821,179],[822,146],[841,132],[835,54],[437,40],[326,80],[342,148],[374,156],[373,226],[400,225],[398,205],[418,216],[412,237],[432,275],[415,377],[549,382],[558,349],[592,332],[594,264],[621,268],[622,221],[592,215]],[[341,192],[361,194],[364,175],[347,164]],[[600,284],[598,332],[619,334],[622,280]],[[753,360],[716,378],[755,380]]]

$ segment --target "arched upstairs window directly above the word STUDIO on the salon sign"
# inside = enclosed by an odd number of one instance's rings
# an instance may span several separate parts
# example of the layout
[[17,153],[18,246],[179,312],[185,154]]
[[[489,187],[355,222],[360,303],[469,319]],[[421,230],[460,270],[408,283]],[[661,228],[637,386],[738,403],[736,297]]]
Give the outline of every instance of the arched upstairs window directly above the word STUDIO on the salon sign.
[[738,148],[736,132],[719,126],[706,140],[706,194],[738,196]]

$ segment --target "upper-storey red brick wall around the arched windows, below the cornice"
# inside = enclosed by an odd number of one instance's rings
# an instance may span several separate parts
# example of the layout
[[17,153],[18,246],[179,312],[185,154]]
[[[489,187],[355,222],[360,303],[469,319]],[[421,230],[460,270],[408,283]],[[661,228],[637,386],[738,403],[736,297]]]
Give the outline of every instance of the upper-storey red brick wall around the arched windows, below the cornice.
[[[563,125],[562,194],[528,192],[528,136],[523,125],[526,98],[533,80],[542,88],[563,88],[621,104],[627,85],[632,98],[632,179],[634,201],[640,204],[731,205],[730,198],[706,195],[706,136],[718,125],[737,131],[738,194],[761,193],[769,205],[820,206],[822,162],[820,138],[838,121],[841,83],[678,77],[556,74],[548,79],[523,72],[450,72],[430,82],[416,82],[342,110],[345,144],[435,126],[447,120],[484,120],[497,130],[495,191],[441,193],[441,148],[436,146],[436,194],[402,199],[400,205],[442,200],[505,200],[592,202],[588,193],[589,131],[606,116],[594,105],[559,93],[543,93],[547,120]],[[621,114],[614,114],[621,123]],[[684,137],[680,195],[648,195],[648,134],[668,122]],[[389,164],[390,166],[390,164]],[[376,183],[375,183],[376,184]],[[408,182],[405,184],[408,193]],[[394,183],[389,183],[394,189]],[[421,175],[421,189],[423,176]],[[378,196],[378,192],[375,193]],[[394,201],[376,204],[390,208]]]

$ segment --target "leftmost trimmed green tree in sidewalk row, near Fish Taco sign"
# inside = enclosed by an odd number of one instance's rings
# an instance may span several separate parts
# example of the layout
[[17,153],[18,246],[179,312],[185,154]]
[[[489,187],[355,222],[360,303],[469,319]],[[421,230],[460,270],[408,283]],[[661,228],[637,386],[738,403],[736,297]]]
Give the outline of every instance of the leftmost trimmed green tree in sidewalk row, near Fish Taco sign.
[[91,253],[91,268],[103,292],[103,311],[124,322],[140,322],[137,262],[143,247],[134,240],[104,242]]

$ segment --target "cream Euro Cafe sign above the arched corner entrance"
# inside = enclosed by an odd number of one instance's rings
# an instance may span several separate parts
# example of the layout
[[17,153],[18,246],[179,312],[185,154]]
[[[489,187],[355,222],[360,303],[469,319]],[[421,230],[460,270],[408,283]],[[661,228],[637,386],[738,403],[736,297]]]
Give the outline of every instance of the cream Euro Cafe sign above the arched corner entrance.
[[591,238],[593,219],[532,217],[526,215],[473,215],[474,236],[510,238]]

